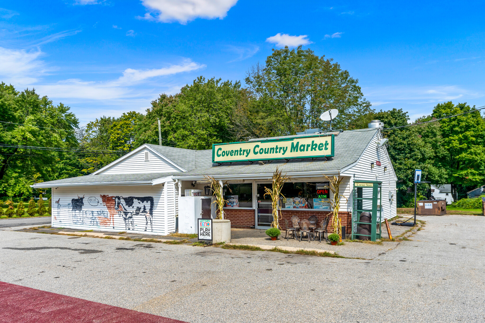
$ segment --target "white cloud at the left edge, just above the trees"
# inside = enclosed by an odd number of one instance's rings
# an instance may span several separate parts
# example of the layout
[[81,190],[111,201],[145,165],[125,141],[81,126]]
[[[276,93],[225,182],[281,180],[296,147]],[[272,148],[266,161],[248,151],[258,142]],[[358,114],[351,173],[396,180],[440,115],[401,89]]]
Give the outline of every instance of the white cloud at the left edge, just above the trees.
[[44,53],[37,50],[8,49],[0,47],[0,76],[4,82],[30,84],[45,74],[47,68],[39,57]]

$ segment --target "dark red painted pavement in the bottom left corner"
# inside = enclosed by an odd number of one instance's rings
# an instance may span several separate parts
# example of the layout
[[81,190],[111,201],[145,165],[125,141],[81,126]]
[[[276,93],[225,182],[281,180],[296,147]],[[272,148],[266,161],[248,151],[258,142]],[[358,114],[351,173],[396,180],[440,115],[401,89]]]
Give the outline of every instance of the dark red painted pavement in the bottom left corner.
[[0,281],[0,322],[186,323]]

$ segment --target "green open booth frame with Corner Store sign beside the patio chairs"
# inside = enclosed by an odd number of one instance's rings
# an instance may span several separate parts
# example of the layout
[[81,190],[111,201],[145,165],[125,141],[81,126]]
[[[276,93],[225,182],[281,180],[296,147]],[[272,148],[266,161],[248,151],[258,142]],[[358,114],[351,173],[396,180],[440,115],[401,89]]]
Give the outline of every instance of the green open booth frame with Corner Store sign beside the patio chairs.
[[[358,190],[362,188],[362,190]],[[372,198],[363,197],[363,189],[372,188]],[[358,192],[359,191],[359,192]],[[379,181],[354,181],[353,189],[353,211],[352,211],[352,240],[357,239],[357,236],[371,237],[371,241],[376,241],[381,238],[382,230],[382,182]],[[364,209],[364,201],[372,200],[372,209]],[[360,214],[362,212],[371,212],[371,223],[360,222]],[[371,234],[358,233],[359,225],[371,225]]]

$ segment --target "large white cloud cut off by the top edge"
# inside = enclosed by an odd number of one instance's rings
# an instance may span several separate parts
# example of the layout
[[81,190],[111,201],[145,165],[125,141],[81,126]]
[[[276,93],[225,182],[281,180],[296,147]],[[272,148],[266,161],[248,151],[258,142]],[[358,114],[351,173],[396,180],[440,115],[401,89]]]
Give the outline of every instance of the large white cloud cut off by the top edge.
[[156,16],[146,13],[147,20],[178,21],[185,25],[195,18],[222,19],[238,0],[142,0],[142,4]]

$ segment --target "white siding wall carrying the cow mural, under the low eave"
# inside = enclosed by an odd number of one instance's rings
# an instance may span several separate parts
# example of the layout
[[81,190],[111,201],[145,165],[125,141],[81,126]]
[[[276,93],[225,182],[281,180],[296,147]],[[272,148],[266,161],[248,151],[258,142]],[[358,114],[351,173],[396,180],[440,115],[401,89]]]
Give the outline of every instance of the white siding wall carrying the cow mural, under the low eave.
[[[52,190],[52,226],[58,228],[71,228],[80,231],[127,231],[166,235],[174,230],[167,230],[167,218],[164,203],[165,192],[163,186],[164,185],[102,185],[58,187],[57,189]],[[152,197],[153,230],[150,226],[149,215],[148,224],[146,224],[146,216],[142,214],[133,215],[132,223],[130,223],[130,219],[127,227],[127,222],[125,222],[121,212],[116,212],[115,210],[110,214],[109,207],[103,205],[102,198],[100,197],[101,195],[108,195],[111,198],[118,196],[127,199],[129,197]],[[83,205],[80,205],[79,199],[82,197],[84,197],[82,199]],[[120,200],[122,203],[126,204],[126,201],[123,198]],[[73,199],[78,201],[77,204],[79,207],[77,210],[73,210]],[[146,209],[148,209],[149,203],[146,202],[145,204]],[[137,205],[143,206],[144,203],[134,200],[133,206]],[[76,209],[76,207],[74,209]],[[130,210],[128,205],[127,209]],[[122,207],[120,207],[119,210],[121,211]]]

